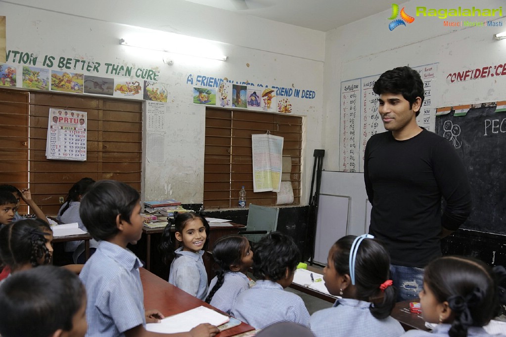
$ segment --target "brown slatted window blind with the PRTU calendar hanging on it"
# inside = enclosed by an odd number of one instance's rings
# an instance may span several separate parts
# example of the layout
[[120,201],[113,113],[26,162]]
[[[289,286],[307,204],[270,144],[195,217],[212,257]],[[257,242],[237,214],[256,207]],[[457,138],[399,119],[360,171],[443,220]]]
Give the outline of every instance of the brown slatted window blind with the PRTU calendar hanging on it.
[[[5,98],[4,98],[5,95]],[[10,95],[10,96],[9,96]],[[104,99],[46,92],[0,90],[0,111],[13,105],[12,96],[28,98],[24,106],[24,139],[19,136],[10,148],[2,145],[2,158],[7,165],[0,168],[1,183],[22,188],[28,185],[35,203],[48,215],[56,214],[61,204],[59,197],[66,197],[69,188],[79,179],[114,179],[141,189],[142,175],[142,103],[137,101]],[[28,102],[27,102],[28,101]],[[47,160],[46,139],[49,109],[84,111],[88,114],[87,160],[85,162]],[[6,112],[6,114],[8,114]],[[2,116],[4,117],[4,116]],[[21,118],[21,117],[20,117]],[[0,134],[12,129],[12,125],[0,121]],[[29,123],[29,124],[28,124]],[[21,134],[22,132],[19,131]],[[6,153],[23,150],[29,156],[19,160],[8,158]],[[4,142],[2,143],[4,144]],[[28,149],[29,146],[29,149]],[[21,150],[17,150],[21,148]],[[28,160],[26,160],[28,159]],[[23,175],[15,177],[16,172]],[[20,211],[20,213],[23,213]]]

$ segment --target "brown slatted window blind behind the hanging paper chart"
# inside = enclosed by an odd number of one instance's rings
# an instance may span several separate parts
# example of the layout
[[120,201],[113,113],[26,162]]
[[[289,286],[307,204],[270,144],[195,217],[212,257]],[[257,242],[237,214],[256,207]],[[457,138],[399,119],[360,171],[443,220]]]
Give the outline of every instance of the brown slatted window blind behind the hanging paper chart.
[[206,108],[204,150],[204,206],[238,207],[239,190],[246,189],[246,205],[274,206],[276,192],[253,192],[251,134],[266,133],[284,138],[283,157],[291,160],[293,204],[301,200],[302,117]]

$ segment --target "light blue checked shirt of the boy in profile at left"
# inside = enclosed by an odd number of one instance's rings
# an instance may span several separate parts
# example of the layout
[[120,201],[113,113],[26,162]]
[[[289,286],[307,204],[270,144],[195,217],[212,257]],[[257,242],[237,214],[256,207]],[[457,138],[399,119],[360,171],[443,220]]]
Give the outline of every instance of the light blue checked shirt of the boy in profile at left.
[[86,262],[79,278],[88,296],[87,337],[124,336],[146,325],[140,267],[134,253],[107,241]]

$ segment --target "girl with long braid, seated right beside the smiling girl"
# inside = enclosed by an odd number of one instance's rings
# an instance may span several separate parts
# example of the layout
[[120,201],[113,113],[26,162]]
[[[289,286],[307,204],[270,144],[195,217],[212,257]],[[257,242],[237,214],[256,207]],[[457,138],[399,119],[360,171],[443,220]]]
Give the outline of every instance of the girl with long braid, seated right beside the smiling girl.
[[211,280],[205,302],[230,314],[237,296],[249,289],[246,272],[253,264],[253,251],[246,237],[233,234],[216,240],[213,257],[216,277]]

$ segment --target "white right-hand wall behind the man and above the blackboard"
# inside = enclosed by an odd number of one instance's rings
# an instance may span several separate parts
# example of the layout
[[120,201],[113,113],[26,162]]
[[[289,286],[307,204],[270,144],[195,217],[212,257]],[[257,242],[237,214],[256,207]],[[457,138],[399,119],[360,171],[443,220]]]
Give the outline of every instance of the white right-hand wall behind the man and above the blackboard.
[[[386,70],[410,65],[420,66],[439,63],[435,81],[437,107],[458,104],[494,102],[506,100],[506,76],[479,78],[451,83],[446,79],[449,73],[467,69],[482,68],[506,63],[506,40],[494,40],[492,35],[506,30],[502,27],[444,27],[442,19],[434,17],[416,17],[416,6],[427,8],[498,8],[504,3],[498,0],[486,2],[472,1],[410,1],[399,4],[405,6],[407,14],[415,21],[406,27],[400,26],[393,31],[388,29],[391,10],[378,13],[369,18],[331,30],[326,33],[324,67],[324,144],[325,158],[323,168],[338,170],[339,166],[339,109],[341,81],[381,74]],[[506,7],[503,7],[506,14]],[[448,18],[446,20],[477,21],[479,18]],[[495,21],[506,21],[504,17],[495,17]],[[433,93],[434,95],[434,93]],[[339,173],[324,175],[334,179],[328,191],[344,195],[349,181],[357,181],[357,173]],[[358,179],[357,190],[364,190],[363,180]],[[329,181],[322,180],[322,185]],[[343,186],[343,187],[340,187]],[[353,205],[350,233],[363,232],[365,201],[363,205]],[[356,210],[356,211],[353,211]]]

